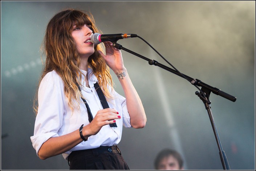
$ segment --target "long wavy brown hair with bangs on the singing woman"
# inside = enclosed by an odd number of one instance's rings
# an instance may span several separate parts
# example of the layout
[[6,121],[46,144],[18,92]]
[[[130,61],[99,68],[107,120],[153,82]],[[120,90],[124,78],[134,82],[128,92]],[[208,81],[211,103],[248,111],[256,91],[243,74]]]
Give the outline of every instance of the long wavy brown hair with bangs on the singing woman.
[[[82,93],[78,89],[81,85],[82,72],[79,69],[81,59],[78,54],[76,43],[71,36],[73,25],[91,25],[93,33],[101,33],[97,29],[94,18],[90,12],[77,9],[65,9],[57,13],[49,21],[44,41],[42,44],[42,52],[45,54],[45,63],[42,75],[39,80],[38,87],[44,76],[50,71],[56,71],[64,82],[64,92],[68,98],[68,105],[72,111],[76,105],[80,109],[79,101]],[[105,60],[98,53],[103,50],[101,45],[94,45],[94,53],[88,58],[88,67],[92,68],[93,74],[97,77],[99,86],[107,99],[111,99],[107,86],[113,88],[113,81],[109,72],[109,67]],[[37,89],[38,91],[38,89]],[[86,97],[83,97],[86,99]],[[76,104],[75,104],[76,103]],[[34,98],[34,112],[38,111],[38,96]]]

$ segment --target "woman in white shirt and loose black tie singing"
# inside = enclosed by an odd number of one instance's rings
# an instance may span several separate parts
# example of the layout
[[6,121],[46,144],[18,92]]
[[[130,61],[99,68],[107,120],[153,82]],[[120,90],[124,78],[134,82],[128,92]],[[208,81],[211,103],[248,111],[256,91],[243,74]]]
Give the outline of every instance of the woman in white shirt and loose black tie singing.
[[[143,128],[146,114],[121,51],[103,42],[105,55],[90,42],[97,32],[93,16],[80,10],[61,11],[49,21],[31,141],[40,159],[62,154],[70,170],[129,170],[116,145],[122,126]],[[125,97],[114,91],[109,68]],[[100,89],[108,105],[104,109]]]

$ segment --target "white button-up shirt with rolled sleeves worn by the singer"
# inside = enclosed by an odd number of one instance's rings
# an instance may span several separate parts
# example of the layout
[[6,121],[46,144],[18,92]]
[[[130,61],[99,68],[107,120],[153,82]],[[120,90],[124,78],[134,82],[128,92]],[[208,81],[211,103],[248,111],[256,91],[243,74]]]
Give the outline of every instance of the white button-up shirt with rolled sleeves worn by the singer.
[[[81,87],[81,91],[94,117],[98,110],[103,109],[94,88],[97,78],[94,74],[91,75],[92,70],[90,68],[88,68],[88,73],[83,70],[81,72],[89,76],[90,88],[85,86],[84,76],[82,75],[82,84],[84,83],[84,85]],[[121,119],[117,119],[115,122],[117,127],[103,126],[96,135],[90,136],[88,141],[82,141],[62,154],[66,160],[72,151],[117,145],[121,141],[122,126],[131,128],[125,97],[115,91],[112,92],[111,88],[109,88],[109,91],[114,96],[111,101],[108,101],[109,107],[116,109],[121,116]],[[68,107],[68,99],[64,93],[62,79],[54,70],[47,73],[38,89],[38,113],[34,125],[34,135],[31,136],[32,145],[37,155],[42,144],[49,138],[68,134],[79,129],[82,124],[89,124],[87,109],[82,99],[80,100],[80,108],[81,110],[78,110],[74,107],[72,113],[72,110]]]

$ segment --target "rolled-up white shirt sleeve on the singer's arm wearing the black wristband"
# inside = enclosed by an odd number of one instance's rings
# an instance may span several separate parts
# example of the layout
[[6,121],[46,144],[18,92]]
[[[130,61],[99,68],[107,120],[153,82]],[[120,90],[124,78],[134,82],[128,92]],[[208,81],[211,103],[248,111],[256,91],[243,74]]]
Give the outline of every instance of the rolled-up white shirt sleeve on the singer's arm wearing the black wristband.
[[38,155],[42,144],[51,137],[58,137],[64,112],[63,84],[56,73],[48,73],[38,89],[38,113],[34,125],[32,145]]

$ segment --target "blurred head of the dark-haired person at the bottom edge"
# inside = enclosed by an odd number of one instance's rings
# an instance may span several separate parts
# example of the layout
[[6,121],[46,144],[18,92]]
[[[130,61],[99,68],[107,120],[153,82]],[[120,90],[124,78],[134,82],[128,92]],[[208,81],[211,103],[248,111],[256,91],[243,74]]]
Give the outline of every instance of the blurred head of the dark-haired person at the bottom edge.
[[156,170],[183,170],[183,159],[181,155],[171,149],[160,151],[155,158]]

